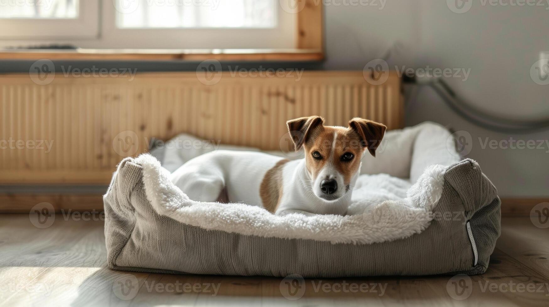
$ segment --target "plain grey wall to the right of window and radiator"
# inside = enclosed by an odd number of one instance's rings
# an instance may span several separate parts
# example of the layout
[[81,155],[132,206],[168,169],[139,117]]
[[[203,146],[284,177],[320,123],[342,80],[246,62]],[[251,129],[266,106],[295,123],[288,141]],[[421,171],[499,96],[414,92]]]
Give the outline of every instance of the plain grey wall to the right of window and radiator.
[[[463,14],[452,12],[444,0],[386,0],[381,10],[379,5],[328,5],[324,67],[362,70],[398,42],[392,48],[396,52],[390,67],[470,69],[467,81],[446,79],[469,104],[506,118],[547,118],[549,85],[540,86],[530,78],[530,67],[539,60],[539,53],[549,50],[549,3],[544,4],[483,6],[473,1],[473,7]],[[430,89],[420,92],[406,112],[408,125],[427,120],[472,135],[468,157],[480,163],[500,196],[549,196],[548,143],[542,149],[513,150],[483,149],[479,142],[479,138],[483,142],[485,138],[545,141],[549,129],[509,135],[479,128],[453,113]]]

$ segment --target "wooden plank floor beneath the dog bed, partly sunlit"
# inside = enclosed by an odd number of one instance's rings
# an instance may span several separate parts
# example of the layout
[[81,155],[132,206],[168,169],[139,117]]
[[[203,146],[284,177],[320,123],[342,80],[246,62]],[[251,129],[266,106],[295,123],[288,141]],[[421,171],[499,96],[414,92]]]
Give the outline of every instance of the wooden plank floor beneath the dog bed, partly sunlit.
[[490,268],[470,279],[307,279],[305,292],[289,293],[274,277],[128,275],[106,268],[105,253],[100,220],[58,215],[38,229],[27,214],[0,215],[0,306],[549,305],[549,229],[529,218],[502,220]]

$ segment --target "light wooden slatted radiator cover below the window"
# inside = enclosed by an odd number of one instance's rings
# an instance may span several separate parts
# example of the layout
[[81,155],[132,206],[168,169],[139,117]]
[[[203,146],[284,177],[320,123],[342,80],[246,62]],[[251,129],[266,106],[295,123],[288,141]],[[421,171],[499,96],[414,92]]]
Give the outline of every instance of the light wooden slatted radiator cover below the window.
[[[223,73],[207,85],[195,72],[65,77],[39,85],[0,76],[0,184],[107,185],[116,164],[185,132],[225,144],[281,149],[289,119],[320,115],[404,124],[396,73],[372,85],[362,71],[305,71],[299,81]],[[205,82],[207,83],[207,82]],[[282,148],[284,149],[284,148]]]

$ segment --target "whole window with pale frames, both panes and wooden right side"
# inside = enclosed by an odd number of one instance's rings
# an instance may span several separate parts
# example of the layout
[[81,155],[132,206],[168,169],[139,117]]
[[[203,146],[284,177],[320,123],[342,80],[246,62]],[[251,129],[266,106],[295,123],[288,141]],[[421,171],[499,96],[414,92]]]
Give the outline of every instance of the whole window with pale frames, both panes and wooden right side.
[[0,48],[19,49],[11,53],[64,45],[79,49],[72,53],[92,54],[316,56],[322,44],[321,2],[295,1],[311,4],[294,8],[281,0],[0,0]]

